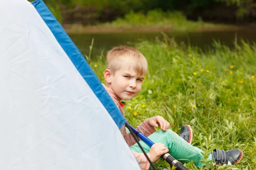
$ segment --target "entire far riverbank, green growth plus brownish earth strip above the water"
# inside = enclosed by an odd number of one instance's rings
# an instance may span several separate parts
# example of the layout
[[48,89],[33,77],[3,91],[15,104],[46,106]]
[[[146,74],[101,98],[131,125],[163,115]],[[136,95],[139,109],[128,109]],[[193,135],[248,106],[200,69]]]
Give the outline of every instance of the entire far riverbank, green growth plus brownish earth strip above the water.
[[110,32],[173,32],[173,31],[234,31],[239,26],[206,23],[187,20],[182,12],[148,11],[130,12],[123,18],[112,22],[98,23],[93,26],[82,24],[63,24],[68,33],[110,33]]

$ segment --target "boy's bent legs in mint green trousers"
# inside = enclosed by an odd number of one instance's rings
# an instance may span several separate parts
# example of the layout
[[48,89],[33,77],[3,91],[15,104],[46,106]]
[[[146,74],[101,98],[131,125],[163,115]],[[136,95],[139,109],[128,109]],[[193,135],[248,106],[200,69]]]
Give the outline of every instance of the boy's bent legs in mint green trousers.
[[[154,132],[153,134],[148,136],[148,139],[150,139],[154,143],[161,142],[165,144],[166,147],[169,149],[169,153],[175,159],[185,159],[180,160],[180,162],[182,163],[187,163],[193,160],[197,167],[205,166],[205,164],[200,161],[204,159],[204,156],[201,154],[203,150],[199,149],[198,147],[192,146],[172,130],[168,129],[166,130],[166,132],[164,132],[163,130],[158,130],[157,132]],[[148,153],[150,147],[143,141],[140,141],[140,144],[142,145],[145,152]],[[138,144],[134,144],[130,148],[135,152],[142,153],[142,150],[140,149]],[[208,160],[212,160],[212,155],[209,156],[207,161]]]

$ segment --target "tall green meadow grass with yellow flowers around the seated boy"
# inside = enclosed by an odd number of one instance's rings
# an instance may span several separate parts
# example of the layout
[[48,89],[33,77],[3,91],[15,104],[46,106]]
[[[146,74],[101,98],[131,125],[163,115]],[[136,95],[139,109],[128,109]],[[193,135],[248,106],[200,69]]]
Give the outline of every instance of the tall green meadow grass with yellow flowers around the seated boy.
[[[214,42],[214,48],[203,53],[165,40],[135,45],[147,58],[149,71],[143,90],[125,106],[128,121],[136,126],[161,115],[177,133],[189,124],[194,130],[192,144],[203,149],[206,157],[213,148],[240,148],[244,152],[236,166],[209,164],[200,169],[255,170],[256,45],[243,42],[232,51]],[[90,65],[103,80],[104,56]],[[158,169],[164,166],[164,161],[156,163]],[[186,167],[197,170],[192,162]]]

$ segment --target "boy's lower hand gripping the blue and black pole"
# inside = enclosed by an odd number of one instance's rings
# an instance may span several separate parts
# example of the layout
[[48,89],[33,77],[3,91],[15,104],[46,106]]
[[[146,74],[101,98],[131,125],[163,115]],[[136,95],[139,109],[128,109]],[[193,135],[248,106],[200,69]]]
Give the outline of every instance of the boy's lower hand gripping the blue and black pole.
[[162,143],[153,144],[149,150],[151,162],[153,164],[156,163],[158,161],[158,159],[160,158],[160,156],[167,153],[168,151],[169,150],[167,149],[167,147]]

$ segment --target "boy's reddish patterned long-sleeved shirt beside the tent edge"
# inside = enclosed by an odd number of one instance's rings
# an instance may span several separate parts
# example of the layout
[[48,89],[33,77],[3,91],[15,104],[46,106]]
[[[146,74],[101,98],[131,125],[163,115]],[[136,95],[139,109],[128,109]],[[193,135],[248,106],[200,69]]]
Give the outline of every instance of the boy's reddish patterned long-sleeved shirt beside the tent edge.
[[[122,100],[114,93],[114,91],[111,88],[106,87],[104,84],[102,84],[108,94],[111,96],[113,101],[116,103],[116,106],[119,108],[120,112],[122,113],[123,116],[125,116],[125,111],[123,108]],[[145,136],[149,136],[152,133],[154,133],[156,130],[154,127],[150,126],[146,121],[144,121],[142,124],[136,127],[137,130],[139,130],[141,133],[143,133]],[[122,136],[125,138],[125,141],[129,146],[134,145],[136,143],[135,139],[132,137],[131,133],[127,133],[125,129],[125,125],[123,125],[120,128],[120,131],[122,133]],[[147,158],[145,157],[144,153],[137,153],[134,150],[131,150],[132,153],[134,154],[135,158],[140,164],[140,168],[142,170],[148,170],[149,169],[149,162]],[[148,158],[150,159],[150,154],[147,153]]]

